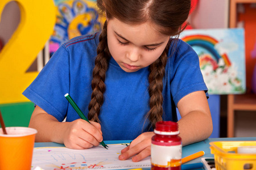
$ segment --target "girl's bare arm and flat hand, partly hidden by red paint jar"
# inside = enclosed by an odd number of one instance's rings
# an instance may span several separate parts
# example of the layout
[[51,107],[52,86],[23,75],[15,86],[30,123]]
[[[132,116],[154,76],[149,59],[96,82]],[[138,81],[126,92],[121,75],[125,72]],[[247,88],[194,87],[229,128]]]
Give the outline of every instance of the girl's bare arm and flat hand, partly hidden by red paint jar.
[[[193,92],[184,96],[177,104],[181,119],[179,124],[182,145],[189,145],[207,139],[212,134],[212,117],[204,91]],[[151,154],[151,137],[153,132],[139,135],[131,145],[124,148],[119,156],[126,160],[133,156],[133,162],[138,162]],[[135,156],[134,156],[135,155]]]

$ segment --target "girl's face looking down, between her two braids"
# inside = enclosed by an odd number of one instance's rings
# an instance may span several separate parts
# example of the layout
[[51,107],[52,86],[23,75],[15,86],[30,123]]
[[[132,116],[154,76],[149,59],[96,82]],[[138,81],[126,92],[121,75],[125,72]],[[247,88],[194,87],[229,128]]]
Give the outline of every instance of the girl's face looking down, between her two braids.
[[130,25],[108,20],[108,46],[112,57],[126,72],[151,65],[166,48],[170,36],[160,35],[149,22]]

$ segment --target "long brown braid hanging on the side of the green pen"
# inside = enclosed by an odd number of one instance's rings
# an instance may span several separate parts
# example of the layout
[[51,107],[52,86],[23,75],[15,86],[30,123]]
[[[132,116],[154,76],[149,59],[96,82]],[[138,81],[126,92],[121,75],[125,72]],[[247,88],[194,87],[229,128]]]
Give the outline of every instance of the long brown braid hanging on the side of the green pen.
[[95,67],[93,69],[92,79],[92,96],[88,106],[89,113],[88,119],[91,121],[100,122],[98,115],[100,114],[100,108],[104,101],[104,92],[106,90],[105,77],[106,70],[108,69],[108,62],[110,59],[110,53],[108,49],[107,39],[107,23],[104,23],[100,35],[100,43],[97,47],[97,57],[95,59]]

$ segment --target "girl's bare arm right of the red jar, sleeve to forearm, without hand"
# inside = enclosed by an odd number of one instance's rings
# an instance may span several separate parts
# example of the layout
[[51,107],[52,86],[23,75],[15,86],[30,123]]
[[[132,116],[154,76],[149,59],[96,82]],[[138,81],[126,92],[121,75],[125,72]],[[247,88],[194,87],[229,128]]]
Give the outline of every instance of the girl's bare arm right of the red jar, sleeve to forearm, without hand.
[[179,124],[183,146],[203,141],[212,134],[212,116],[204,91],[193,92],[177,103],[181,119]]

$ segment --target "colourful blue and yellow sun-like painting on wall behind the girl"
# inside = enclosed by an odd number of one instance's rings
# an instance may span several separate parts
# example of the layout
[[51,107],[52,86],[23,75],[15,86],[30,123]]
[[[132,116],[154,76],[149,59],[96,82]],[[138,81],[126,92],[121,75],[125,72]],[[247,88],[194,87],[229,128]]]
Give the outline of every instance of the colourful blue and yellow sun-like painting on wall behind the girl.
[[95,1],[55,0],[56,24],[49,39],[50,53],[73,37],[101,30]]

